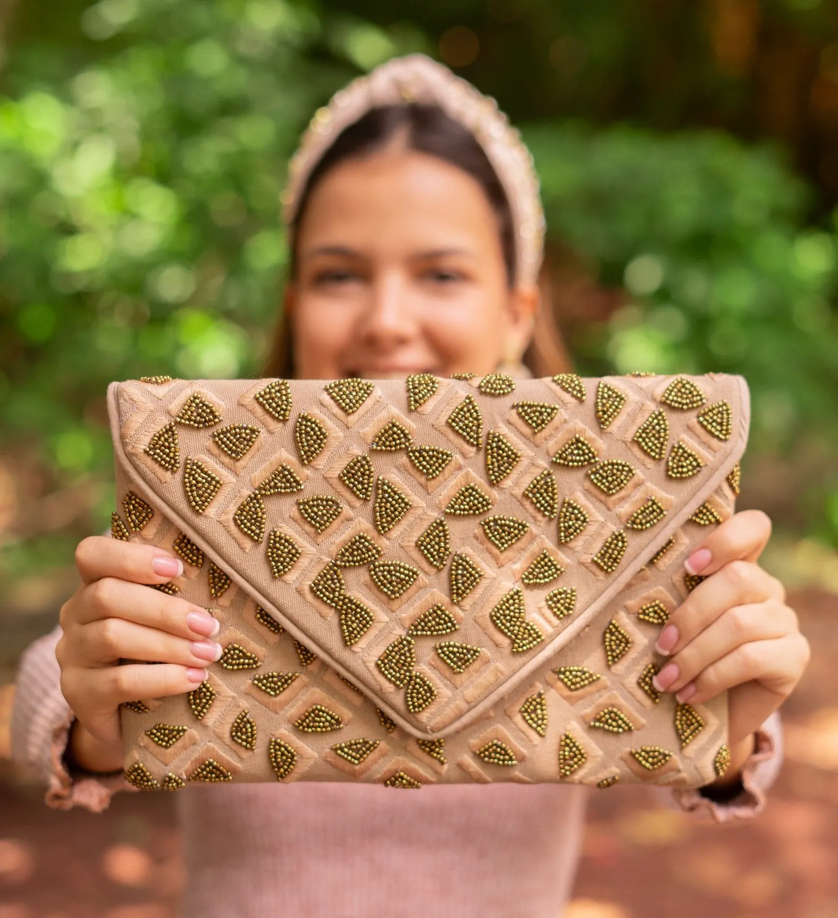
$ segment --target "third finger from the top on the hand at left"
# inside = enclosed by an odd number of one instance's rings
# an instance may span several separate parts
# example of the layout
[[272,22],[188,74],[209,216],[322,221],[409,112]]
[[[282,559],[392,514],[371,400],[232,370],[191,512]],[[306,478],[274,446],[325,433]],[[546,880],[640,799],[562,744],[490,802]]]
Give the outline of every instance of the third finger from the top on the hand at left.
[[216,641],[189,641],[124,619],[101,619],[84,625],[79,644],[76,662],[81,666],[106,666],[130,659],[204,667],[215,663],[222,653]]

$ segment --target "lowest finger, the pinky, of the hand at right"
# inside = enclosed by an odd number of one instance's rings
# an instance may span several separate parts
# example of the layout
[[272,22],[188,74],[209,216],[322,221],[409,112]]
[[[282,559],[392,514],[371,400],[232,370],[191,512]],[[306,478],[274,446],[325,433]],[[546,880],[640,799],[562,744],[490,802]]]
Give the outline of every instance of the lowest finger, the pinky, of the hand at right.
[[765,691],[776,695],[779,704],[794,689],[806,668],[808,646],[806,638],[799,632],[740,644],[687,682],[676,693],[676,699],[699,704],[724,689],[733,689],[755,680]]

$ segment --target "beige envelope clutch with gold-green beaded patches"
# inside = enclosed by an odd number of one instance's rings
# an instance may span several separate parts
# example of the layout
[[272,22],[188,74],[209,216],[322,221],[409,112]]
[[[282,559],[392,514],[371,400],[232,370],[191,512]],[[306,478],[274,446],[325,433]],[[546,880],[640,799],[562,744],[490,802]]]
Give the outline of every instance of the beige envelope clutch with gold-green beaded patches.
[[617,781],[727,767],[727,700],[654,641],[727,519],[741,376],[114,383],[117,539],[221,623],[188,695],[124,706],[126,778]]

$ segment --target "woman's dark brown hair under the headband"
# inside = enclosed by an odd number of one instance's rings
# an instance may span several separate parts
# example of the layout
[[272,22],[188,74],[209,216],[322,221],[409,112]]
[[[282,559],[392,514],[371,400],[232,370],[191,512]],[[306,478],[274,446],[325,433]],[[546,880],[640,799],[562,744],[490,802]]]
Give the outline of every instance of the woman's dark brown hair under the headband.
[[[289,271],[291,281],[296,276],[297,237],[300,221],[307,203],[318,182],[335,166],[348,159],[363,157],[385,146],[398,132],[404,132],[408,149],[428,153],[449,162],[469,174],[481,186],[486,199],[497,217],[501,248],[507,269],[508,286],[515,285],[515,239],[512,212],[503,185],[475,136],[459,122],[445,114],[439,106],[411,103],[409,105],[377,106],[366,112],[362,118],[343,129],[334,143],[318,161],[300,195],[290,226]],[[549,320],[545,327],[544,319]],[[559,335],[553,323],[552,313],[545,315],[540,310],[536,333],[523,355],[533,375],[550,375],[566,368],[566,358],[555,352],[564,352]],[[536,343],[539,342],[539,343]],[[539,358],[539,351],[545,350]],[[290,317],[283,310],[274,331],[271,353],[264,369],[266,376],[285,379],[295,375],[293,334]],[[549,353],[553,352],[553,353]]]

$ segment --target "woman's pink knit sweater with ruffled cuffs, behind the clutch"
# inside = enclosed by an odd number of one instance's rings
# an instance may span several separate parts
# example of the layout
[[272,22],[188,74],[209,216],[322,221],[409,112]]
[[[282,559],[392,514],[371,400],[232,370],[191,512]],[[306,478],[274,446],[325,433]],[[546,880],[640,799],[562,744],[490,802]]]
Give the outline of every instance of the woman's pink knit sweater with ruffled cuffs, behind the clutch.
[[[101,812],[117,790],[136,791],[121,776],[73,776],[61,763],[73,713],[61,696],[60,636],[56,628],[21,659],[12,754],[37,769],[50,806]],[[698,790],[655,793],[698,818],[750,818],[765,806],[781,757],[773,714],[757,733],[735,800],[714,803]],[[183,913],[556,918],[574,879],[587,793],[555,784],[417,793],[305,782],[190,786],[176,794],[188,867]]]

